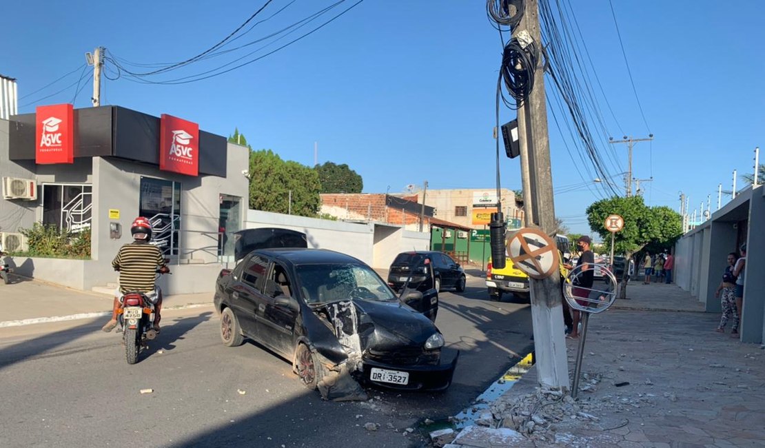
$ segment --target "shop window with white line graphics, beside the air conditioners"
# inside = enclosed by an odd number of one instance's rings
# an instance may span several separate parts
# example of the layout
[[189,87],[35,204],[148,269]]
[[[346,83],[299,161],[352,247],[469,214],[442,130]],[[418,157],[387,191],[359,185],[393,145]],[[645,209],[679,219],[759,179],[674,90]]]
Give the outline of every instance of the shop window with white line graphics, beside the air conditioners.
[[90,229],[93,187],[70,183],[43,184],[43,219],[45,226],[67,232]]

